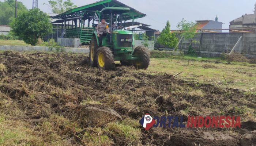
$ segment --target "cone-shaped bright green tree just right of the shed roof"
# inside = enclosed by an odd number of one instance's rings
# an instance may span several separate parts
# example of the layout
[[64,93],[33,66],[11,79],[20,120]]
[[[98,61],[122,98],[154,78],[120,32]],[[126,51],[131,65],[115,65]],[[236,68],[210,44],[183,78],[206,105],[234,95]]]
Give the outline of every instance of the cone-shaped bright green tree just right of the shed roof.
[[171,33],[170,27],[170,22],[167,21],[165,28],[163,28],[160,36],[157,38],[157,43],[169,48],[174,48],[178,43],[178,38],[175,37],[175,33]]

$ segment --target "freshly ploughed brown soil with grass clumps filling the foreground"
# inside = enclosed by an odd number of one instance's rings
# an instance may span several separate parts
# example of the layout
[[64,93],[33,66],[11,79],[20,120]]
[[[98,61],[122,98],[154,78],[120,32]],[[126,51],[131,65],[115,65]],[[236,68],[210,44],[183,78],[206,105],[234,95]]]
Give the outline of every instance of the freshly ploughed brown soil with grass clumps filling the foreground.
[[[238,146],[241,135],[255,130],[255,95],[237,89],[190,83],[168,74],[151,75],[120,65],[111,71],[99,70],[91,68],[87,55],[82,54],[5,51],[0,53],[0,64],[4,65],[0,68],[0,112],[8,120],[29,123],[46,145],[51,145],[53,133],[65,139],[65,145],[90,145],[81,135],[95,134],[93,129],[100,128],[113,140],[101,145]],[[240,115],[242,128],[145,131],[131,125],[140,131],[138,141],[132,142],[108,131],[110,122],[130,119],[138,123],[146,113],[184,116],[185,120],[188,115]],[[61,124],[52,115],[70,123]],[[46,121],[54,128],[42,128]]]

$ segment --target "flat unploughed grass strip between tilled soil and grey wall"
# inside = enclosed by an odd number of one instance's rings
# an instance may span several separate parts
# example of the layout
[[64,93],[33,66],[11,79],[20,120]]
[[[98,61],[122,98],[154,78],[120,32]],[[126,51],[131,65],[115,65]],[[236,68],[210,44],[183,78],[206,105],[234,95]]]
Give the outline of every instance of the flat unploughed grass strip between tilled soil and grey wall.
[[[209,61],[209,59],[211,60]],[[221,61],[218,58],[197,58],[185,55],[183,58],[178,56],[167,59],[151,58],[150,66],[145,72],[173,75],[182,72],[177,78],[199,84],[219,84],[223,88],[228,86],[228,88],[249,90],[256,87],[256,71],[254,68],[254,64],[246,62],[230,62],[227,64],[226,61]]]

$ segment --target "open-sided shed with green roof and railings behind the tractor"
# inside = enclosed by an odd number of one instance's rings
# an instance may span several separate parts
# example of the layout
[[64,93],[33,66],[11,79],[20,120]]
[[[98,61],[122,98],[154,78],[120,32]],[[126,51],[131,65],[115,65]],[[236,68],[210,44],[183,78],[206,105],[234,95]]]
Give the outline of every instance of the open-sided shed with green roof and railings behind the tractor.
[[[64,12],[62,14],[53,16],[53,19],[59,19],[54,22],[54,26],[57,25],[59,29],[59,24],[64,27],[65,35],[63,37],[68,38],[80,38],[80,43],[89,43],[95,31],[95,26],[98,24],[101,18],[105,18],[107,23],[110,23],[109,16],[101,13],[103,8],[108,7],[119,7],[119,8],[129,8],[129,12],[125,12],[121,15],[114,15],[113,18],[116,22],[124,23],[127,20],[132,20],[132,24],[135,19],[143,18],[146,14],[137,11],[134,8],[129,7],[117,0],[101,0],[92,4],[84,5],[81,7],[73,8]],[[92,27],[90,27],[90,22],[92,21]],[[59,32],[59,31],[57,31]],[[58,35],[57,35],[58,36]]]

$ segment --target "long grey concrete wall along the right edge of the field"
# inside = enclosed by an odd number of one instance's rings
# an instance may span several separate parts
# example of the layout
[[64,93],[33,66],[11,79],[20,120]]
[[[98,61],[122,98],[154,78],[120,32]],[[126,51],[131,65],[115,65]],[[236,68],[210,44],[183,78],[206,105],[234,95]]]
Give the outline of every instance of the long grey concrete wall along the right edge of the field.
[[[256,33],[201,33],[197,34],[192,43],[192,48],[199,54],[206,56],[219,56],[222,53],[229,53],[242,36],[241,42],[234,52],[244,54],[248,57],[256,57]],[[180,35],[177,35],[180,39]],[[180,43],[178,48],[187,50],[191,40]]]

